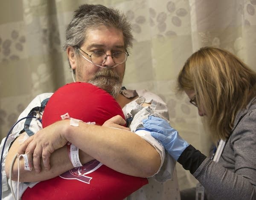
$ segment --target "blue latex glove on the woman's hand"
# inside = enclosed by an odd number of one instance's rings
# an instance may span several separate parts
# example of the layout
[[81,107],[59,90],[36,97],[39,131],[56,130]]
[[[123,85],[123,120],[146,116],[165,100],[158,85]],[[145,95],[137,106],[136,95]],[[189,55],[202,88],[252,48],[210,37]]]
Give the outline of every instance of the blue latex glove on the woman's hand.
[[143,120],[143,123],[146,129],[151,130],[151,136],[160,140],[175,160],[178,160],[180,154],[189,146],[189,143],[183,140],[178,131],[173,129],[166,120],[150,115],[148,119]]

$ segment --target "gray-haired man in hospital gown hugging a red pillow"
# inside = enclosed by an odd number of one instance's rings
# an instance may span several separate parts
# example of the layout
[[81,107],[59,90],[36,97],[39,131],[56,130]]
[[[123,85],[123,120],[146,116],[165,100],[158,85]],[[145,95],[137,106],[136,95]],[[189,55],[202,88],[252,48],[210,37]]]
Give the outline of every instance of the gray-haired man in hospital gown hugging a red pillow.
[[[149,184],[127,199],[179,199],[177,177],[173,175],[175,161],[165,155],[163,146],[150,133],[134,133],[148,114],[167,119],[169,114],[166,104],[157,95],[122,87],[125,62],[129,56],[127,49],[132,46],[132,39],[130,24],[117,10],[85,4],[75,11],[66,30],[64,45],[72,74],[76,81],[92,83],[111,94],[124,111],[126,123],[131,125],[133,132],[122,130],[124,122],[118,116],[105,123],[105,126],[118,129],[86,123],[74,127],[70,126],[70,120],[61,120],[41,129],[38,120],[26,120],[13,131],[12,139],[7,144],[10,145],[17,136],[31,137],[21,146],[20,140],[15,140],[7,157],[7,150],[4,155],[7,173],[17,152],[32,157],[33,169],[25,171],[20,168],[20,181],[33,183],[20,183],[20,193],[28,186],[34,186],[36,181],[48,180],[73,169],[67,155],[66,143],[69,141],[79,149],[76,155],[82,165],[96,159],[121,173],[149,177]],[[36,97],[20,118],[33,111],[42,115],[45,100],[51,95],[47,93]],[[20,163],[24,166],[23,160]],[[16,165],[12,171],[13,180],[17,180]],[[6,199],[11,199],[10,195],[6,196]]]

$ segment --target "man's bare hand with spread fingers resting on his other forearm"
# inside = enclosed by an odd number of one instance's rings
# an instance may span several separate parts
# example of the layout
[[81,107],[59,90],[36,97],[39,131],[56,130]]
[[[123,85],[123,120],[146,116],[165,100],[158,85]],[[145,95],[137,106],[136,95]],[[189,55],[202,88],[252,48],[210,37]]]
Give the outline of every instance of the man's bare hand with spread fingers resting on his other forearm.
[[67,144],[64,137],[64,127],[66,124],[70,126],[69,121],[61,120],[39,130],[20,145],[18,155],[27,154],[29,163],[33,163],[35,171],[38,173],[41,171],[42,157],[45,169],[49,170],[52,152]]

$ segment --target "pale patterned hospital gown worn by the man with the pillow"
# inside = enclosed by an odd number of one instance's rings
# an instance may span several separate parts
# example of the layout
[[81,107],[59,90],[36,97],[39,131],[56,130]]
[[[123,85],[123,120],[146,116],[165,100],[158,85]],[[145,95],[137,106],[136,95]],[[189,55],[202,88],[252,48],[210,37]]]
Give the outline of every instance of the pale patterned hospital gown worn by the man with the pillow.
[[[132,101],[131,103],[128,103],[124,108],[124,114],[125,117],[129,117],[134,113],[143,113],[141,116],[145,114],[145,111],[149,110],[153,111],[157,114],[160,114],[164,118],[168,119],[168,109],[166,104],[161,100],[160,97],[157,95],[150,93],[146,90],[139,90],[137,91],[137,94],[139,95],[139,98],[137,100]],[[52,93],[44,93],[40,94],[37,97],[35,97],[34,100],[29,104],[29,106],[20,114],[18,119],[21,119],[22,117],[26,117],[31,110],[33,110],[35,107],[40,107],[41,103],[51,97]],[[150,108],[143,108],[140,104],[142,103],[151,103]],[[42,112],[40,112],[42,115]],[[138,115],[137,115],[138,116]],[[136,116],[136,117],[137,117]],[[145,115],[144,115],[145,116]],[[135,118],[135,117],[134,117]],[[138,122],[132,121],[131,127],[138,127],[140,126],[140,119],[141,117],[138,117]],[[6,174],[5,174],[5,159],[6,155],[8,153],[8,149],[12,141],[19,136],[20,131],[24,129],[25,120],[22,120],[20,123],[18,123],[14,130],[12,131],[12,134],[9,136],[6,146],[3,153],[3,163],[2,163],[2,191],[3,191],[3,200],[12,200],[12,194],[10,191],[10,181],[7,181]],[[36,120],[32,119],[29,123],[29,127],[26,127],[28,130],[27,132],[36,133],[38,130],[42,129],[41,123]],[[172,157],[169,156],[169,154],[165,154],[163,146],[160,147],[157,140],[152,138],[150,135],[142,136],[145,140],[147,140],[149,143],[151,143],[153,146],[158,146],[157,151],[161,155],[162,159],[162,167],[159,170],[157,174],[154,175],[154,177],[148,178],[149,183],[139,190],[135,191],[130,196],[126,197],[125,200],[180,200],[180,191],[178,188],[178,182],[177,182],[177,174],[175,169],[175,161],[172,159]],[[3,148],[3,142],[5,138],[2,140],[0,145],[0,150]],[[22,141],[20,141],[22,142]],[[157,181],[158,180],[158,181]],[[19,183],[19,194],[20,196],[23,194],[23,192],[26,190],[27,187],[32,187],[36,183]],[[14,189],[15,194],[17,194],[17,182],[12,181],[12,186]]]

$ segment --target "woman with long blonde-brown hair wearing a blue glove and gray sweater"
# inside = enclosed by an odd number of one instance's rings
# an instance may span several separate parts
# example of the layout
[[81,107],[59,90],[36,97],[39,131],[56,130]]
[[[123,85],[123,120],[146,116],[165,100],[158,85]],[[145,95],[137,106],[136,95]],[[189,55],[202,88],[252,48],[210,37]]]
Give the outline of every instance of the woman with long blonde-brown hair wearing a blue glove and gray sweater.
[[197,193],[181,191],[181,199],[255,200],[256,72],[228,51],[204,47],[186,60],[177,85],[198,107],[218,143],[211,159],[183,140],[167,121],[144,120],[151,135],[203,186]]

